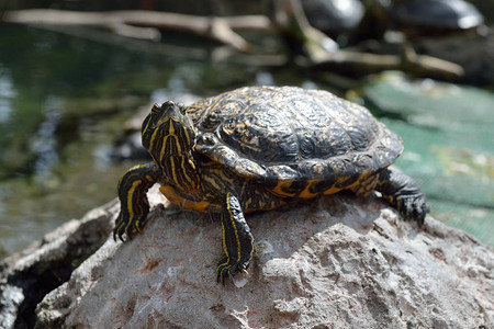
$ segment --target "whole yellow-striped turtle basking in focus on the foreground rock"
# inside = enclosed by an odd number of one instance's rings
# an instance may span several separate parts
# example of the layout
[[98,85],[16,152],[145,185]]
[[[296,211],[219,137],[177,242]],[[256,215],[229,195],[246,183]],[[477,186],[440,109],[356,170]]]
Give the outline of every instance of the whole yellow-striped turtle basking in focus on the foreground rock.
[[251,261],[246,213],[344,190],[361,197],[375,190],[418,225],[429,211],[418,184],[390,167],[402,139],[366,107],[324,90],[244,87],[189,106],[158,103],[143,122],[142,143],[153,161],[119,181],[114,239],[142,232],[146,192],[159,183],[172,203],[220,217],[223,284]]

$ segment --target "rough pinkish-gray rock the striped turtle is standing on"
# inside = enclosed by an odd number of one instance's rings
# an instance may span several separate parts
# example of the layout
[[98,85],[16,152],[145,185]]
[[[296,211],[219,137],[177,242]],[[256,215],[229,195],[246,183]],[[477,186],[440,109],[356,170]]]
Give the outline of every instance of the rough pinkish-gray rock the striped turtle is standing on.
[[217,218],[155,206],[144,235],[106,240],[46,295],[36,326],[494,328],[493,250],[434,218],[418,229],[344,194],[247,220],[256,256],[242,288],[215,282]]

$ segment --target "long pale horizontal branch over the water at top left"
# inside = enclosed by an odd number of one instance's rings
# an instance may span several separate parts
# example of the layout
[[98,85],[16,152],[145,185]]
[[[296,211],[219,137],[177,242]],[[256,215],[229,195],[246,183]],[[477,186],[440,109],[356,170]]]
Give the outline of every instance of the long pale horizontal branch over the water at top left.
[[269,19],[262,15],[204,18],[153,11],[76,12],[30,9],[8,11],[2,21],[36,25],[83,25],[151,41],[159,39],[159,30],[176,31],[210,38],[242,52],[249,50],[250,45],[234,30],[272,30]]

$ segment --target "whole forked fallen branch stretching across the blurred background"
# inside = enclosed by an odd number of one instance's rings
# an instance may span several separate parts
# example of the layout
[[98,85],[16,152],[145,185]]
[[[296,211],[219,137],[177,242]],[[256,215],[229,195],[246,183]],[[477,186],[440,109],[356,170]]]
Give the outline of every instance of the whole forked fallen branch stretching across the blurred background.
[[[454,80],[463,75],[462,67],[439,58],[417,55],[406,46],[403,54],[398,55],[377,55],[338,49],[336,43],[308,24],[299,0],[280,0],[278,4],[274,22],[265,15],[206,18],[138,10],[76,12],[50,9],[7,11],[0,20],[58,30],[61,27],[70,30],[66,26],[98,27],[117,35],[145,41],[159,41],[160,31],[187,33],[229,46],[237,53],[244,53],[243,63],[261,66],[283,65],[285,56],[266,54],[267,52],[259,54],[259,48],[248,43],[238,32],[274,33],[301,45],[305,57],[296,60],[297,65],[315,68],[318,71],[335,71],[355,76],[383,70],[402,70],[419,77],[444,80]],[[223,60],[232,57],[238,59],[235,52],[220,48],[218,52],[215,52],[213,59]]]

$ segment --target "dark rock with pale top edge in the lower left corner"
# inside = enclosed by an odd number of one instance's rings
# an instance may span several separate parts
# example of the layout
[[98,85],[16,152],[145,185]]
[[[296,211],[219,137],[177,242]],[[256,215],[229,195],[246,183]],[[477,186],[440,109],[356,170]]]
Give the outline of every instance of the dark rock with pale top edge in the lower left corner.
[[113,201],[69,220],[0,262],[0,328],[33,328],[36,305],[103,245],[112,230],[109,218],[119,206]]

